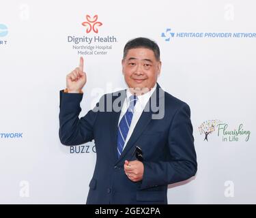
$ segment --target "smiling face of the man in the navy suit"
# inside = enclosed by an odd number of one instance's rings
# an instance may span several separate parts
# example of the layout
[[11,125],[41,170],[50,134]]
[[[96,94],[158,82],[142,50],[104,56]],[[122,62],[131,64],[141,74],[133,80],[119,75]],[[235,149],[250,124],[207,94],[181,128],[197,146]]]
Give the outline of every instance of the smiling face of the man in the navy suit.
[[132,48],[122,60],[122,68],[129,88],[151,89],[160,74],[161,62],[148,48]]

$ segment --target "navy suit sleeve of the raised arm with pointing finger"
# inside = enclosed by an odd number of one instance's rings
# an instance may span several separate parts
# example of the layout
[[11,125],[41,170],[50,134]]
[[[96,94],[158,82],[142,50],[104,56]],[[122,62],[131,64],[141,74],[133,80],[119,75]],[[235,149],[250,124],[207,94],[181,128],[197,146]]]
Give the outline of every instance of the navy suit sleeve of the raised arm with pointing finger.
[[79,119],[83,94],[60,91],[59,139],[64,145],[79,145],[94,139],[94,123],[98,112],[89,110]]

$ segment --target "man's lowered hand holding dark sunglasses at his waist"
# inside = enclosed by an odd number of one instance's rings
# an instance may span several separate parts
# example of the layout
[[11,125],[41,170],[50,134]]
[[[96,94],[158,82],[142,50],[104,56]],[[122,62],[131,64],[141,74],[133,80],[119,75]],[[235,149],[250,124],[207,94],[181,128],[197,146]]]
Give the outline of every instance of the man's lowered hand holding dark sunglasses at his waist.
[[144,165],[141,161],[124,161],[124,172],[132,182],[141,181],[143,178]]

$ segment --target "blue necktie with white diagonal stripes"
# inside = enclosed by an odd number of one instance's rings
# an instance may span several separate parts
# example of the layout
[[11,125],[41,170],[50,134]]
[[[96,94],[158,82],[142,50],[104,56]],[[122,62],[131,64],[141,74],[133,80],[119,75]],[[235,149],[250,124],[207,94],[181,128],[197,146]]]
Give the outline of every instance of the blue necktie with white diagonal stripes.
[[130,128],[130,123],[132,122],[132,116],[134,112],[134,106],[137,102],[137,96],[132,95],[129,97],[129,106],[122,117],[118,130],[117,130],[117,157],[119,158],[123,149],[124,149],[124,143],[126,142],[126,137],[128,135],[128,131]]

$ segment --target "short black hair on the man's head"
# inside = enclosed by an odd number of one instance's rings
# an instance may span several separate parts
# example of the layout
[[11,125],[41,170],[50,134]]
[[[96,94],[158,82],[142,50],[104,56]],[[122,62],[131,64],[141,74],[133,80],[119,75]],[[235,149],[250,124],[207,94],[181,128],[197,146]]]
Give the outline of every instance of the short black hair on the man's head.
[[154,55],[156,57],[157,61],[160,61],[160,49],[158,47],[158,44],[156,42],[145,38],[145,37],[137,37],[135,39],[132,39],[126,43],[124,46],[124,56],[123,59],[126,58],[126,55],[128,53],[128,50],[132,48],[148,48],[154,52]]

